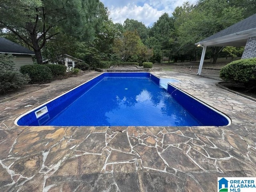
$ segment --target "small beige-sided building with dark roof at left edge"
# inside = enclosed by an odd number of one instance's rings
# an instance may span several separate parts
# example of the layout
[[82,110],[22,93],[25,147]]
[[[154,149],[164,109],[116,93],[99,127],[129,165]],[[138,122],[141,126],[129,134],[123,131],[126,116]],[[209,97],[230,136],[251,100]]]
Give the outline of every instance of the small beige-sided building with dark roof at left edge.
[[2,37],[0,38],[0,53],[12,54],[14,56],[15,69],[17,70],[23,65],[33,64],[32,55],[35,55],[28,48]]

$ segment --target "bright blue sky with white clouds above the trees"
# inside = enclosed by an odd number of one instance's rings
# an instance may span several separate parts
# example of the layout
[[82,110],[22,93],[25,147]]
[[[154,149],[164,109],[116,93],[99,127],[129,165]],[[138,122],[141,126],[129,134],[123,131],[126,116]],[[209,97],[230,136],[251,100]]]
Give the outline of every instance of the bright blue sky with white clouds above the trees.
[[114,23],[123,24],[129,18],[146,26],[152,26],[165,12],[171,16],[174,9],[186,1],[196,3],[196,0],[101,0]]

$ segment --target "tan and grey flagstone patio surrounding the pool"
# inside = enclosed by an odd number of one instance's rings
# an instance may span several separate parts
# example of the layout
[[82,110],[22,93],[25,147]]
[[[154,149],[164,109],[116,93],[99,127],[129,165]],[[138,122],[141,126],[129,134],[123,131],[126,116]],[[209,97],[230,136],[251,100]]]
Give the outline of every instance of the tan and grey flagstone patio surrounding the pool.
[[[16,126],[14,120],[99,72],[0,104],[1,192],[212,192],[217,177],[256,177],[256,102],[217,80],[153,72],[225,113],[229,126]],[[29,107],[24,107],[32,105]]]

